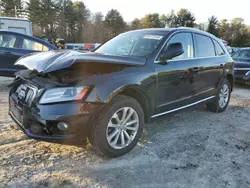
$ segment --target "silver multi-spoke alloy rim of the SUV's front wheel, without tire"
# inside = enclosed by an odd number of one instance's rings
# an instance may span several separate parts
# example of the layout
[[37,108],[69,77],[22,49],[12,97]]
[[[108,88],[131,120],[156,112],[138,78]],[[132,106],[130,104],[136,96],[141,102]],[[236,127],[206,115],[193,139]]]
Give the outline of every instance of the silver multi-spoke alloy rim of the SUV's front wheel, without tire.
[[135,138],[139,129],[139,116],[131,107],[117,110],[109,120],[106,138],[114,149],[127,147]]

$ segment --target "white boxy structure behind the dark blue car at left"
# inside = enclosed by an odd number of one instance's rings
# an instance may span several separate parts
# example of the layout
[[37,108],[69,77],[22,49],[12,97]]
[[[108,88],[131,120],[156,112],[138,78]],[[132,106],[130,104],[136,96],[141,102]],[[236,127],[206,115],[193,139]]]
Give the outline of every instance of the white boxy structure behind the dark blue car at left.
[[32,22],[25,18],[0,17],[0,30],[9,30],[32,36]]

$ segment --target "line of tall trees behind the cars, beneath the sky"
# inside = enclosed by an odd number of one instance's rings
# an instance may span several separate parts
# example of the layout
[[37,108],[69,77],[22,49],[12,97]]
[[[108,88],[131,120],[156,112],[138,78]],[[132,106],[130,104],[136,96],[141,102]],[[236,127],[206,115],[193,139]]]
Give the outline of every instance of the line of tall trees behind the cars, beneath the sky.
[[187,9],[147,14],[127,23],[118,10],[111,9],[106,15],[92,13],[82,1],[0,0],[0,15],[28,18],[33,22],[35,36],[59,37],[67,42],[103,43],[129,30],[184,26],[208,31],[231,46],[250,46],[250,27],[242,18],[218,20],[211,16],[207,22],[197,23],[195,15]]

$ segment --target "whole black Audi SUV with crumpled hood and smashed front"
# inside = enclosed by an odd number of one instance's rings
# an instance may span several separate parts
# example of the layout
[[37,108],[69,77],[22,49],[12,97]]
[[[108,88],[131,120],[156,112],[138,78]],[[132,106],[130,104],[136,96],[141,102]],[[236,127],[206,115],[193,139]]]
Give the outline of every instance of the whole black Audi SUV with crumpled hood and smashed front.
[[21,129],[47,141],[88,137],[109,157],[132,150],[150,119],[199,103],[223,112],[234,83],[225,46],[190,28],[130,31],[95,52],[43,52],[16,64],[29,69],[9,97]]

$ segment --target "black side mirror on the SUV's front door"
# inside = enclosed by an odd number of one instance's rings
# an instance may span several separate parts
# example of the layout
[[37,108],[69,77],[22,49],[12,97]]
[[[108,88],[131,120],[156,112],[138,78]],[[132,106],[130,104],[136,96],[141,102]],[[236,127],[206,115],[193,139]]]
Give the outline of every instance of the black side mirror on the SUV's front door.
[[184,53],[183,45],[180,42],[171,43],[164,50],[161,59],[167,61]]

